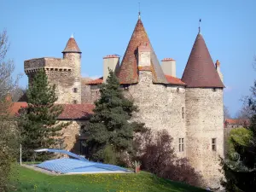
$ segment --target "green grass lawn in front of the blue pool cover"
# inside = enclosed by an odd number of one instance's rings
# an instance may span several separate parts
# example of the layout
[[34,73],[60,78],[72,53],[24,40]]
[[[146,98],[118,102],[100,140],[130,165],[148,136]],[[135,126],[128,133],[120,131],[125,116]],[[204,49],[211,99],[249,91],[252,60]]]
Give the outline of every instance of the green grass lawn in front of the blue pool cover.
[[52,176],[36,172],[22,166],[13,167],[12,181],[18,182],[15,191],[47,191],[47,192],[78,192],[78,191],[173,191],[201,192],[183,183],[176,183],[156,177],[148,172],[137,174],[84,174]]

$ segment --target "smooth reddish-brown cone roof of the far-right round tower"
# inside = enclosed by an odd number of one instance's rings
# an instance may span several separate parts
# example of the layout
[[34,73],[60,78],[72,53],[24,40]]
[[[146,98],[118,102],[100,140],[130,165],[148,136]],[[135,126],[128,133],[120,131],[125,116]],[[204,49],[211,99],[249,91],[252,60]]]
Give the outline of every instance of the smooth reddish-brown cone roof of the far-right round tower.
[[182,81],[190,88],[224,88],[201,33],[195,38]]

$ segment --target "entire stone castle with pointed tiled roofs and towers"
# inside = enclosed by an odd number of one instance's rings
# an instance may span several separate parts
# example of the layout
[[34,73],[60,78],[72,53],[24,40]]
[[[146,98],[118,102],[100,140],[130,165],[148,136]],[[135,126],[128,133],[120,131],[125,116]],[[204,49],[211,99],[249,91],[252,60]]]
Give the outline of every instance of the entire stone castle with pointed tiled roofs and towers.
[[62,59],[27,60],[24,67],[29,81],[43,68],[49,83],[56,84],[57,103],[65,106],[59,119],[73,120],[66,130],[67,149],[73,148],[80,127],[86,126],[86,117],[92,113],[99,84],[106,81],[109,67],[119,78],[125,96],[139,108],[134,119],[154,131],[169,131],[176,154],[187,157],[208,186],[218,187],[218,155],[224,156],[224,84],[220,64],[217,61],[214,66],[200,31],[182,79],[176,77],[175,60],[166,58],[160,65],[140,16],[120,65],[118,55],[103,57],[100,79],[81,77],[81,50],[73,37],[62,53]]

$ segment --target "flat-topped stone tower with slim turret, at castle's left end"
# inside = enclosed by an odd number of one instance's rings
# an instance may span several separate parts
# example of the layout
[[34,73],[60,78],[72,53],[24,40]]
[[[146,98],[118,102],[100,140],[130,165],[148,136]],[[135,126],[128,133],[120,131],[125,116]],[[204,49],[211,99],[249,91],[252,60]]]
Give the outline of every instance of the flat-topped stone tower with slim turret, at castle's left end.
[[49,84],[55,84],[56,103],[81,103],[81,51],[73,36],[62,51],[63,59],[43,57],[24,61],[29,83],[38,70],[43,69]]

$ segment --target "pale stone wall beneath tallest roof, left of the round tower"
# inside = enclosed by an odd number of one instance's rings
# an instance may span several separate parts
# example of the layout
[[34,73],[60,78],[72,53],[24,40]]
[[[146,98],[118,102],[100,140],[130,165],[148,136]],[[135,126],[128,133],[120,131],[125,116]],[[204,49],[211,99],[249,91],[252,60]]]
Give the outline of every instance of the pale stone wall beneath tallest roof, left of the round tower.
[[151,72],[141,71],[138,84],[131,85],[128,90],[124,90],[124,94],[133,99],[139,108],[134,120],[145,123],[154,131],[166,129],[173,137],[175,152],[179,157],[184,157],[186,148],[183,152],[178,151],[178,138],[183,138],[186,143],[185,116],[182,118],[184,88],[153,84]]

